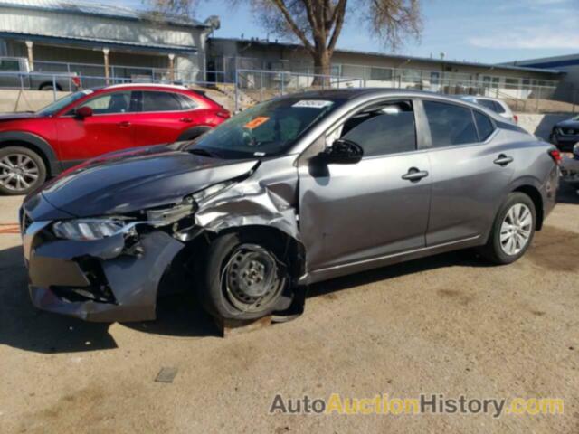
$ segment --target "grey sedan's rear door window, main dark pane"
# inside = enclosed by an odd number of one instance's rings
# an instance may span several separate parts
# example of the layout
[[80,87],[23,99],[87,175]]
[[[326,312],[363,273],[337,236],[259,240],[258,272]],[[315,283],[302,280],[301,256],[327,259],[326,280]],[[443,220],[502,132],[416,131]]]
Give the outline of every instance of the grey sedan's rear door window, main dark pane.
[[432,147],[458,146],[479,141],[471,109],[425,100],[424,111],[431,128]]

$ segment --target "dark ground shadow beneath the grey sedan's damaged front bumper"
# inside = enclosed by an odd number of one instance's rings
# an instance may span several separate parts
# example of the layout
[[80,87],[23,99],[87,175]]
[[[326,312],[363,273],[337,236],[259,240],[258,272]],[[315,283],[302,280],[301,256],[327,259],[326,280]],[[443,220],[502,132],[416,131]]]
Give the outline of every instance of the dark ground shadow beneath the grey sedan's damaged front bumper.
[[[43,354],[117,348],[109,323],[89,323],[33,307],[21,246],[0,250],[0,276],[0,345]],[[157,335],[219,335],[211,318],[183,294],[160,298],[156,321],[123,326]]]

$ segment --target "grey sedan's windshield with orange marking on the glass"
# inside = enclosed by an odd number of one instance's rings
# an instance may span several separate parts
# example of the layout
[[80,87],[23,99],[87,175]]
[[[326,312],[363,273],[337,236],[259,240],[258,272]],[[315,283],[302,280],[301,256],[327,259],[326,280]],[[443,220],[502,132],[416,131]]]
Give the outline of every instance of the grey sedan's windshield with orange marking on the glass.
[[226,159],[277,156],[345,99],[272,99],[247,109],[187,147]]

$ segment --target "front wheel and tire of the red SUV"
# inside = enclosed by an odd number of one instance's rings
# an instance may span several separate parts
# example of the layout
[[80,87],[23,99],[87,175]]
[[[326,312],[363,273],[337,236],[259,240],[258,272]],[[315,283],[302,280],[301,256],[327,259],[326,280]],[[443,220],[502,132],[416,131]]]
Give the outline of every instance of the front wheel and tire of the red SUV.
[[[7,176],[14,174],[14,171],[7,165],[6,160],[12,162],[13,165],[18,161],[23,162],[23,169],[18,174],[23,176],[24,182],[18,182],[14,176],[10,180],[7,179]],[[33,175],[36,177],[33,178]],[[44,165],[43,158],[33,150],[24,146],[0,148],[0,194],[27,194],[44,184],[45,180],[46,165]]]

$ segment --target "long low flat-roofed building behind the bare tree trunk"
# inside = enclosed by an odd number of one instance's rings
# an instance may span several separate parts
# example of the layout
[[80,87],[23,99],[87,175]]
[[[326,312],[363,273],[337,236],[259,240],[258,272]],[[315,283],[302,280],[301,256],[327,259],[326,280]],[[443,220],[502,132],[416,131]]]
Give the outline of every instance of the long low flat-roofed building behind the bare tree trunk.
[[[223,69],[228,81],[235,80],[237,75],[242,87],[308,86],[305,74],[314,72],[311,57],[299,44],[212,37],[208,40],[208,47],[209,69]],[[293,74],[280,78],[279,74],[261,71]],[[363,80],[365,86],[372,87],[477,93],[514,99],[550,99],[565,75],[558,69],[352,50],[334,52],[331,74],[344,85],[348,79],[355,79],[351,80],[355,86]]]

